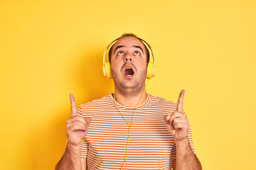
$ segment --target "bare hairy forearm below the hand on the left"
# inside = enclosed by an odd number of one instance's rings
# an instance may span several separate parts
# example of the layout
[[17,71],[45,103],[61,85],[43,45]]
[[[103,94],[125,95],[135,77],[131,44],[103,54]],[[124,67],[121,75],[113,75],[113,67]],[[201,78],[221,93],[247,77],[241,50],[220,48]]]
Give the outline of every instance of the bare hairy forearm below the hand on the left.
[[80,146],[67,145],[63,157],[55,167],[55,170],[81,170]]

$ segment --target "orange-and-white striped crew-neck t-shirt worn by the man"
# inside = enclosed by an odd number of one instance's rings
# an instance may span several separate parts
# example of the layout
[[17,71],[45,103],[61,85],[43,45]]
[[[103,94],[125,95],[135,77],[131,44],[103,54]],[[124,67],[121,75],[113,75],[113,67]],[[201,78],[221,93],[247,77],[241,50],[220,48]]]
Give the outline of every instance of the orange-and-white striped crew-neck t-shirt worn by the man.
[[[117,105],[131,123],[136,107]],[[176,159],[176,147],[163,117],[174,111],[176,103],[147,94],[132,123],[123,169],[171,169],[173,159]],[[86,158],[87,169],[120,169],[126,154],[129,127],[112,95],[82,104],[78,114],[92,118],[80,150],[80,156]],[[195,152],[189,123],[188,140]]]

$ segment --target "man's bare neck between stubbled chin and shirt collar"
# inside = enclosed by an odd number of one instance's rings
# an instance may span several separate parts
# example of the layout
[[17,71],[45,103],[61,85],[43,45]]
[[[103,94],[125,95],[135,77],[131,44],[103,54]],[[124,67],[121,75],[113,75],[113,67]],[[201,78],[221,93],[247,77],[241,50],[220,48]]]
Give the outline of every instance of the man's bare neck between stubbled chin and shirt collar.
[[123,106],[137,107],[146,101],[147,95],[146,95],[146,89],[144,90],[144,88],[138,93],[133,95],[129,95],[129,93],[128,94],[121,93],[121,91],[116,89],[114,91],[114,98],[118,103],[122,104]]

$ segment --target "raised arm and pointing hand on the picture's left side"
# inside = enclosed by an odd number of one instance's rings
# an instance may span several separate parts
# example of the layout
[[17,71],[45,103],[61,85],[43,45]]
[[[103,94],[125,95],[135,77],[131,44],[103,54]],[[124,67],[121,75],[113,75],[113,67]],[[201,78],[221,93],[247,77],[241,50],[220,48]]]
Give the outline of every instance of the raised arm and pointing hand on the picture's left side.
[[87,134],[90,125],[90,118],[82,118],[77,113],[75,98],[70,94],[71,113],[66,121],[66,134],[68,144],[63,157],[55,167],[55,170],[85,170],[85,159],[80,158],[80,145]]

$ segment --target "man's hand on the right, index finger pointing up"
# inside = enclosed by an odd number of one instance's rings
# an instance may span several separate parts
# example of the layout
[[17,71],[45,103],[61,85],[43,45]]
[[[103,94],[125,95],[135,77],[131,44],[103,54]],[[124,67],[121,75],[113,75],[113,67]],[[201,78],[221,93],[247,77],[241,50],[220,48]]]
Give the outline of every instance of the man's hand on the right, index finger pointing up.
[[185,90],[178,96],[177,108],[171,115],[164,115],[164,122],[168,132],[174,137],[175,142],[188,140],[188,120],[186,114],[182,113],[183,96]]

